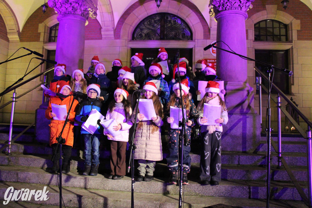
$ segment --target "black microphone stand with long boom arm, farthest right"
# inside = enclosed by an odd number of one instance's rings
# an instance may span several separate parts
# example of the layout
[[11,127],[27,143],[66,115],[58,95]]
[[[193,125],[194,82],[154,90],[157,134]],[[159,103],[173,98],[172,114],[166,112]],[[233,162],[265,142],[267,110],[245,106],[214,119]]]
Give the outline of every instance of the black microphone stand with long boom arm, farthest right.
[[[217,41],[217,42],[223,42],[223,41]],[[226,44],[225,42],[223,42],[224,44]],[[267,178],[266,178],[266,207],[269,208],[270,205],[269,205],[269,200],[270,200],[270,185],[271,185],[271,165],[270,165],[270,157],[271,157],[271,102],[270,102],[270,94],[271,94],[271,86],[270,86],[270,79],[271,79],[271,72],[274,70],[274,69],[277,69],[277,70],[280,70],[281,72],[284,72],[286,74],[288,74],[288,76],[292,76],[293,72],[290,71],[290,70],[287,70],[285,68],[278,68],[278,67],[275,67],[273,66],[272,64],[270,63],[267,63],[267,62],[261,62],[261,61],[258,61],[258,60],[255,60],[255,59],[252,59],[252,58],[249,58],[249,57],[246,57],[246,56],[243,56],[241,54],[238,54],[238,53],[235,53],[233,51],[228,51],[226,49],[223,49],[223,48],[220,48],[220,47],[217,47],[214,45],[215,43],[213,43],[212,47],[214,48],[217,48],[219,50],[222,50],[222,51],[225,51],[225,52],[228,52],[228,53],[232,53],[236,56],[239,56],[243,59],[246,59],[246,60],[249,60],[249,61],[254,61],[254,62],[257,62],[257,63],[260,63],[260,64],[263,64],[263,65],[266,65],[266,66],[269,66],[269,70],[267,71],[268,72],[268,80],[269,80],[269,83],[268,83],[268,107],[267,107],[267,110],[266,110],[266,113],[268,115],[268,124],[266,126],[266,139],[267,139],[267,158],[266,158],[266,171],[267,171]],[[227,45],[227,44],[226,44]],[[209,45],[210,46],[210,45]],[[228,46],[229,47],[229,46]],[[271,83],[273,83],[273,78],[272,78],[272,81]]]

